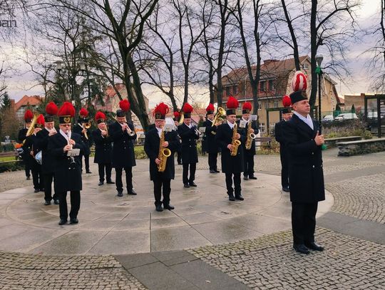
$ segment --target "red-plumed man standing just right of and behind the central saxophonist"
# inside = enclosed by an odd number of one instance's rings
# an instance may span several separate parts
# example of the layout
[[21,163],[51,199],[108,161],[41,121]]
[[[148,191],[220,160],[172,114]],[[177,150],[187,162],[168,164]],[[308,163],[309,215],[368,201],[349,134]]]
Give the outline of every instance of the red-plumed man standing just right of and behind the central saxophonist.
[[[191,125],[191,112],[193,107],[189,103],[183,105],[185,120],[178,126],[178,134],[182,140],[182,164],[183,164],[183,185],[184,187],[196,187],[195,170],[197,168],[197,142],[199,132],[197,128]],[[190,169],[190,177],[188,171]]]

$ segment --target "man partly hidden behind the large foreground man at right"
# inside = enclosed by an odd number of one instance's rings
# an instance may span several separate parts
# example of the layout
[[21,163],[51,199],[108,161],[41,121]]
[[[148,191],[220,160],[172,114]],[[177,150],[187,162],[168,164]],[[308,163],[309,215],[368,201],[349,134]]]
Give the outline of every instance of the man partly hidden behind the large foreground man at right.
[[[289,97],[288,97],[289,98]],[[287,123],[292,118],[292,109],[283,108],[281,110],[282,120],[274,126],[275,140],[279,142],[279,155],[281,157],[281,185],[284,192],[289,192],[289,154],[287,152],[287,147],[284,142],[284,128]]]

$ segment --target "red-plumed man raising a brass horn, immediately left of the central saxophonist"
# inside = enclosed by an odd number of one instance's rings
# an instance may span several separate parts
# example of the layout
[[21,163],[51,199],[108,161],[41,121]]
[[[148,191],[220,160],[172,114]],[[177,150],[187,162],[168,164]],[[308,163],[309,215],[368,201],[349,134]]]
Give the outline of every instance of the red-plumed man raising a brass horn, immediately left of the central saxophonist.
[[136,140],[136,133],[132,123],[125,119],[125,112],[130,110],[128,100],[120,100],[120,110],[116,111],[116,122],[108,128],[108,134],[113,139],[112,165],[115,168],[116,190],[118,197],[123,197],[122,172],[125,171],[125,182],[128,195],[136,195],[133,190],[133,166],[136,165],[133,140]]

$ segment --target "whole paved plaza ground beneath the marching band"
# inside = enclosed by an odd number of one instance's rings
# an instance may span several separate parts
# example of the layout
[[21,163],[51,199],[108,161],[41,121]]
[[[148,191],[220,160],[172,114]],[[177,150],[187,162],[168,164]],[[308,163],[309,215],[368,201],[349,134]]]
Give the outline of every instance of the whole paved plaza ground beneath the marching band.
[[[58,226],[24,172],[0,175],[0,289],[384,289],[385,152],[324,152],[319,204],[324,252],[292,250],[291,204],[279,155],[257,155],[258,180],[229,202],[222,173],[200,158],[195,182],[172,181],[175,210],[155,212],[148,160],[133,170],[137,196],[83,175],[79,224]],[[123,192],[124,193],[124,192]]]

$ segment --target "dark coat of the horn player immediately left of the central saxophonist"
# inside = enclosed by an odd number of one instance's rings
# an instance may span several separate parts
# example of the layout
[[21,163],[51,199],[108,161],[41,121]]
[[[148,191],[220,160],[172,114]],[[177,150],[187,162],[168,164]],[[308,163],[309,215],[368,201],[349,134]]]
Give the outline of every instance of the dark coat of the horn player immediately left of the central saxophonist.
[[[128,126],[135,132],[133,124]],[[128,135],[127,130],[123,132],[120,123],[115,122],[108,128],[108,134],[113,140],[113,167],[133,167],[136,165],[133,140],[136,139],[136,133],[132,137]]]

